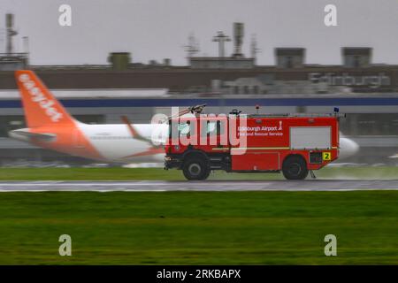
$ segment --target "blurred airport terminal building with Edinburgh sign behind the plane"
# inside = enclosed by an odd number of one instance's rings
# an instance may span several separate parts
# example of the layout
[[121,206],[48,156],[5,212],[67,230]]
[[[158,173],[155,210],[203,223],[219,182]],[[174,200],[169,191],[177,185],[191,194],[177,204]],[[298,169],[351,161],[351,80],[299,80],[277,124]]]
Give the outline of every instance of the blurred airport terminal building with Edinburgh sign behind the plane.
[[170,114],[172,106],[200,103],[213,113],[233,108],[251,113],[256,104],[264,113],[340,107],[348,113],[341,132],[364,153],[350,162],[398,163],[387,158],[398,152],[398,65],[374,64],[371,47],[342,47],[340,65],[309,65],[305,48],[276,47],[274,65],[256,65],[256,42],[250,57],[241,52],[243,24],[233,25],[231,56],[224,54],[223,44],[231,41],[226,34],[218,32],[213,41],[218,42],[218,57],[196,57],[195,42],[190,42],[186,66],[173,66],[168,58],[137,63],[130,52],[111,53],[109,65],[29,65],[28,52],[0,55],[0,162],[88,162],[8,138],[8,131],[25,123],[13,70],[29,68],[86,123],[119,124],[120,115],[150,123],[156,113]]

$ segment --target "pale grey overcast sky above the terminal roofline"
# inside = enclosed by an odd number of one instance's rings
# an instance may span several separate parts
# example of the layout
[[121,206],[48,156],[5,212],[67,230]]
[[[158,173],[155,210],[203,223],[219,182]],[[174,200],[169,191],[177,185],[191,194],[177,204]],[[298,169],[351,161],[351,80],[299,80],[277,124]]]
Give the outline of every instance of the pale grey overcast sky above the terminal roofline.
[[[72,6],[72,27],[58,25],[61,4]],[[337,27],[325,27],[326,4],[337,6]],[[33,65],[106,64],[111,51],[186,65],[188,34],[198,55],[217,56],[211,38],[233,35],[234,21],[245,23],[247,56],[256,34],[260,65],[274,64],[274,47],[305,47],[308,64],[341,64],[341,46],[373,47],[373,63],[398,64],[398,0],[0,0],[0,52],[6,12],[15,14],[17,51],[29,37]]]

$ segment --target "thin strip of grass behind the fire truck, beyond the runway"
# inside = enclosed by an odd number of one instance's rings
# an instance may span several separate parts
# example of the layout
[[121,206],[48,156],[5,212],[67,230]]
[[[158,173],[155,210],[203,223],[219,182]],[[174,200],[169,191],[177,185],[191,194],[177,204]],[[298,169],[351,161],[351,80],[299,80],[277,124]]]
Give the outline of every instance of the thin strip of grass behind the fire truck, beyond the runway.
[[[398,167],[323,168],[315,172],[329,179],[397,179]],[[0,180],[185,180],[179,170],[162,168],[0,168]],[[283,180],[279,173],[210,174],[210,180]]]

